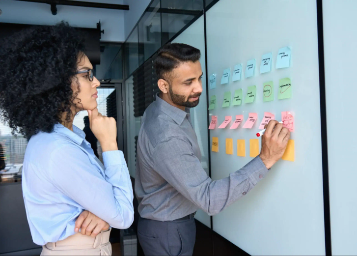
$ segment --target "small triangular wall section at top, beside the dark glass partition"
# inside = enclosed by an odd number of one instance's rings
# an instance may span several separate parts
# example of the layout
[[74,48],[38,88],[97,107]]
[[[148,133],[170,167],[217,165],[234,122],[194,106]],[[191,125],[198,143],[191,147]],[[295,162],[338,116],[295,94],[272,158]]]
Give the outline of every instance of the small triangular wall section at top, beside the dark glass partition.
[[125,39],[128,38],[130,32],[133,30],[134,26],[139,21],[139,18],[144,13],[146,7],[149,5],[151,0],[123,0],[124,4],[129,5],[129,11],[124,13],[124,24],[125,24]]

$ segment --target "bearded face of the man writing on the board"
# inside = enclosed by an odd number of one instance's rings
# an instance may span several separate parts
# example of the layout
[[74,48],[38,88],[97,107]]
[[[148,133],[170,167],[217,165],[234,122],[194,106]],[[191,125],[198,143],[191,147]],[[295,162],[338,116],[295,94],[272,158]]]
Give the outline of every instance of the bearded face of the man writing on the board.
[[196,107],[202,93],[201,63],[184,62],[172,72],[168,90],[172,103],[187,108]]

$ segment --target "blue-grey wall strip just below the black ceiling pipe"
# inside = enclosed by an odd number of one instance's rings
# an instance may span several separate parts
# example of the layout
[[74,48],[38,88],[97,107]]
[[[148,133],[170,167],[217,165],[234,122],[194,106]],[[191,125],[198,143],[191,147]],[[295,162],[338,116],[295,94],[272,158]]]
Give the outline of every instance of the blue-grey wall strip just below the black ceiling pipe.
[[[123,4],[123,0],[86,0],[92,2]],[[145,6],[146,7],[146,6]],[[57,5],[57,15],[52,15],[51,7],[46,3],[1,0],[0,22],[55,25],[64,20],[70,25],[81,28],[97,28],[101,21],[101,41],[124,42],[125,10],[111,10],[91,7]]]

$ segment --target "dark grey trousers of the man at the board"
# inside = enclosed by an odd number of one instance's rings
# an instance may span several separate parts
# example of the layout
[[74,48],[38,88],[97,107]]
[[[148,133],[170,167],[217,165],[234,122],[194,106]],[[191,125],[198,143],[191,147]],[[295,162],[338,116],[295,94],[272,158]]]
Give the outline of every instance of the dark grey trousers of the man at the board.
[[145,256],[189,255],[196,240],[194,218],[181,221],[153,221],[139,218],[137,237]]

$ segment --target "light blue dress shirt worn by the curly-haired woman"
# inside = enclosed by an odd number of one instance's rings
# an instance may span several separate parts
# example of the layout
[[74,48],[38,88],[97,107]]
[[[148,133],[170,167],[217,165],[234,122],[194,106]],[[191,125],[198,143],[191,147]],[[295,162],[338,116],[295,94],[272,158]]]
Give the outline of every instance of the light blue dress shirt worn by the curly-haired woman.
[[88,210],[113,228],[134,221],[133,189],[121,151],[94,155],[84,132],[56,124],[28,142],[22,188],[33,242],[45,245],[75,234],[75,221]]

